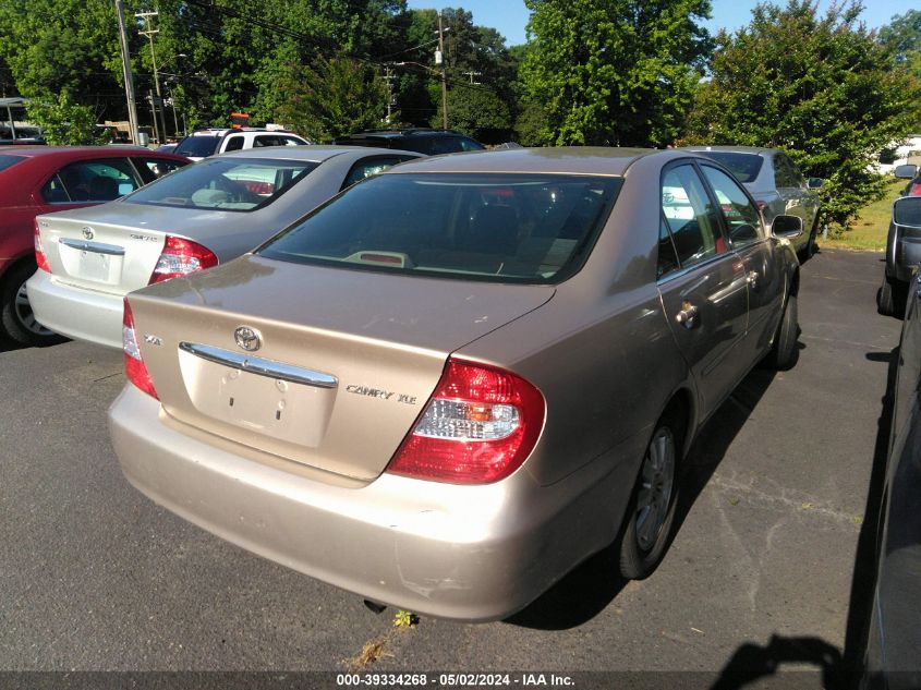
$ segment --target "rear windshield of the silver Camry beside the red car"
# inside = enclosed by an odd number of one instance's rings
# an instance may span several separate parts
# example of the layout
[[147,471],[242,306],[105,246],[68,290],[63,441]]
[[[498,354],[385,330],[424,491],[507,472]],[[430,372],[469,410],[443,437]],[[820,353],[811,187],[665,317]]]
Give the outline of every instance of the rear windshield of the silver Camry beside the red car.
[[142,187],[125,202],[247,211],[267,206],[317,167],[306,160],[209,158]]

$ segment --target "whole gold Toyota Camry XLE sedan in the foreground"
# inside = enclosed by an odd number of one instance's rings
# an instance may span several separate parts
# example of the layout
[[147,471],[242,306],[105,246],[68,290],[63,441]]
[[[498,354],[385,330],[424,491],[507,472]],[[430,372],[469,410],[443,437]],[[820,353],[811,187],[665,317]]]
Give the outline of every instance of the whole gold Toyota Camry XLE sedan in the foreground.
[[798,218],[689,152],[412,161],[131,293],[125,476],[262,556],[492,620],[668,544],[694,434],[796,358]]

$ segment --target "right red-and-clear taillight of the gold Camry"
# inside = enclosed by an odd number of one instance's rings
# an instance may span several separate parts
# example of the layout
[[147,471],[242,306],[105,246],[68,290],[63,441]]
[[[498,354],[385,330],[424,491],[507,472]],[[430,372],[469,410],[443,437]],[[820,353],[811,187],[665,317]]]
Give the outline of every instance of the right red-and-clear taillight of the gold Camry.
[[520,376],[449,359],[388,472],[452,484],[488,484],[528,458],[544,425],[544,396]]

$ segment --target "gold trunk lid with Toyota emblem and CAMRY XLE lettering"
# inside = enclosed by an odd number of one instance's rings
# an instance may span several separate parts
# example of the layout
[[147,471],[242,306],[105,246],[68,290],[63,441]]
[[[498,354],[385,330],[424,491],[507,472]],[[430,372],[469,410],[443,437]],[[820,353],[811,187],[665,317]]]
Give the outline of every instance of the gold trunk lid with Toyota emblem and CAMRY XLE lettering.
[[244,256],[131,303],[170,417],[371,481],[412,428],[448,355],[553,294]]

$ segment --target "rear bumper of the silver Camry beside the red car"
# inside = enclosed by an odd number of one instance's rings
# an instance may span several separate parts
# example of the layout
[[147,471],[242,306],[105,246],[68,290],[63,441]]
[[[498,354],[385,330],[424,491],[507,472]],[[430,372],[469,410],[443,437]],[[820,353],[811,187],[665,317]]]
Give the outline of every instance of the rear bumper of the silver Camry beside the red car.
[[35,271],[26,290],[35,318],[46,328],[121,349],[123,295],[62,285],[45,270]]

